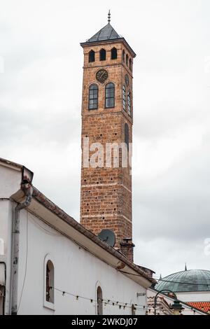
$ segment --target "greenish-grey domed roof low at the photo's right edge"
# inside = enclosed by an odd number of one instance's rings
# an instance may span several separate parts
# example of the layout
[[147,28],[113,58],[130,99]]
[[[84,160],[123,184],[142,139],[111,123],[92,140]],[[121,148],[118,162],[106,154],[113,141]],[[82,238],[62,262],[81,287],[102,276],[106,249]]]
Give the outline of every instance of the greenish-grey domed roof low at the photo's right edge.
[[155,285],[155,289],[181,291],[210,291],[210,271],[206,269],[188,269],[165,276]]

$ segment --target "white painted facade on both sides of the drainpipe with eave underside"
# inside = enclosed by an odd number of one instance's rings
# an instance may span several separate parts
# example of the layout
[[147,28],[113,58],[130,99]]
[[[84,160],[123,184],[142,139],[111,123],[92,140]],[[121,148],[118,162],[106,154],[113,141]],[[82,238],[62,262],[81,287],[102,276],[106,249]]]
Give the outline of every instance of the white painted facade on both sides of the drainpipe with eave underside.
[[[0,278],[3,277],[4,262],[5,314],[11,312],[12,223],[17,206],[14,199],[21,195],[21,181],[21,168],[0,161],[0,239],[3,243]],[[80,297],[77,300],[76,297],[54,290],[54,304],[46,302],[46,258],[53,262],[55,268],[55,288],[89,300]],[[145,314],[146,289],[151,286],[151,281],[141,275],[121,273],[118,264],[122,262],[115,255],[63,223],[59,216],[52,214],[36,200],[32,200],[27,209],[20,210],[18,314],[97,314],[97,286],[102,288],[103,300],[115,302],[114,306],[103,303],[103,314],[132,314],[131,304],[141,305],[136,307],[136,314]],[[123,269],[134,273],[134,269],[128,265]],[[137,293],[141,293],[141,296],[137,297]],[[119,307],[120,303],[127,303],[129,307]]]

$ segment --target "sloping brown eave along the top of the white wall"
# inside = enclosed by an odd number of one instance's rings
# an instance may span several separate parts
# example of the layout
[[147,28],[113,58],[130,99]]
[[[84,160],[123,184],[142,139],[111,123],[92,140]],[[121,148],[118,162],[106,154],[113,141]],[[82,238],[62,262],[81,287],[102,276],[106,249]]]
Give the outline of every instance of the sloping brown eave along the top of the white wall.
[[[15,200],[15,202],[20,202],[22,200],[22,193],[21,191],[18,191],[18,193],[15,193],[15,195],[12,195],[12,199]],[[36,202],[34,203],[33,202]],[[38,213],[38,204],[41,204],[42,207],[44,207],[47,211],[50,211],[48,220],[46,212],[45,218],[43,218],[42,214],[43,212],[40,209],[40,213]],[[57,207],[56,204],[51,202],[45,195],[43,195],[39,190],[37,190],[33,186],[33,199],[31,202],[31,205],[28,207],[29,211],[31,211],[35,216],[38,215],[38,218],[43,219],[45,223],[48,223],[52,227],[55,227],[59,232],[62,232],[65,226],[64,235],[68,236],[66,234],[66,228],[70,228],[69,230],[69,238],[72,239],[71,235],[74,235],[77,237],[76,239],[73,239],[76,243],[79,245],[83,245],[84,248],[87,248],[87,245],[90,248],[90,252],[99,257],[99,252],[101,251],[101,259],[105,262],[109,263],[111,265],[111,259],[112,262],[115,264],[114,267],[120,271],[121,268],[125,270],[126,276],[130,277],[133,281],[141,282],[141,284],[148,288],[151,286],[152,283],[156,283],[155,279],[151,278],[144,272],[143,270],[139,269],[137,265],[135,265],[133,262],[131,262],[128,258],[125,257],[122,253],[117,251],[115,248],[109,246],[109,244],[106,244],[102,240],[100,240],[97,235],[94,235],[92,232],[87,230],[83,227],[83,225],[80,225],[75,219],[73,219],[71,216],[66,214],[62,209]],[[53,214],[53,216],[52,216]],[[54,218],[56,216],[56,218]],[[59,221],[57,220],[57,217],[59,218]],[[54,218],[54,219],[53,219]],[[52,223],[52,221],[54,221]],[[67,225],[67,226],[66,226]],[[62,228],[62,229],[61,229]],[[71,231],[71,232],[70,232]],[[73,233],[74,232],[74,233]],[[82,238],[82,236],[84,238]],[[78,241],[78,239],[80,241]],[[91,242],[88,242],[88,240]],[[97,252],[95,252],[97,251]],[[123,266],[123,267],[121,267]],[[139,274],[139,275],[138,275]]]

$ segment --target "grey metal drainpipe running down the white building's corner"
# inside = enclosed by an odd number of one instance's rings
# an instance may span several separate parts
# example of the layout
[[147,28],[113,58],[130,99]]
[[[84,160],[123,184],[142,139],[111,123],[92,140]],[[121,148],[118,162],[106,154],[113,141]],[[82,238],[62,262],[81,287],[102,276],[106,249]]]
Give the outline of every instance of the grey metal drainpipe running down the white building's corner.
[[29,207],[32,199],[33,187],[23,181],[21,189],[25,193],[25,201],[18,204],[13,212],[13,245],[12,245],[12,275],[11,275],[11,314],[18,314],[18,261],[20,240],[20,210]]

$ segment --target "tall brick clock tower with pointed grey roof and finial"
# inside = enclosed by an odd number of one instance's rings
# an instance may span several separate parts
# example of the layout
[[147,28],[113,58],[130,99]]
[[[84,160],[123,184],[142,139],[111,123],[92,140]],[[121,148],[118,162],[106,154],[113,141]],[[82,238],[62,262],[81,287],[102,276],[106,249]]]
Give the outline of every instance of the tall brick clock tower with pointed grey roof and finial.
[[[80,223],[116,235],[115,248],[133,260],[132,71],[136,56],[110,24],[83,47]],[[128,155],[126,158],[126,154]]]

